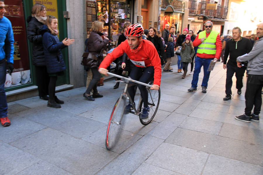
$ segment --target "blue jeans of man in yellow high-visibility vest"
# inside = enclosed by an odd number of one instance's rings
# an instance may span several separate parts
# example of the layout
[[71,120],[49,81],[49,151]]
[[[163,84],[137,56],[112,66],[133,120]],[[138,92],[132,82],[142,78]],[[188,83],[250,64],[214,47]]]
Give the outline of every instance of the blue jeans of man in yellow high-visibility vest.
[[198,77],[202,66],[204,69],[204,78],[202,81],[202,86],[207,87],[207,82],[210,76],[210,71],[207,72],[207,69],[209,67],[211,60],[214,60],[214,58],[200,58],[200,57],[195,58],[195,70],[193,73],[192,88],[197,88]]

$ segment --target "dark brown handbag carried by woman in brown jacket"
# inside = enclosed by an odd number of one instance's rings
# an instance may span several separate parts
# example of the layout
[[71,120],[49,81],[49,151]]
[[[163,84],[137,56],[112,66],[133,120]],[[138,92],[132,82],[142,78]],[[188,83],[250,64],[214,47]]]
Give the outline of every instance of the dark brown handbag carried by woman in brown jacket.
[[[87,50],[87,46],[85,50]],[[99,59],[99,57],[101,56],[102,51],[103,49],[99,54],[85,51],[82,54],[82,61],[80,64],[89,68],[98,67],[101,64],[101,60]]]

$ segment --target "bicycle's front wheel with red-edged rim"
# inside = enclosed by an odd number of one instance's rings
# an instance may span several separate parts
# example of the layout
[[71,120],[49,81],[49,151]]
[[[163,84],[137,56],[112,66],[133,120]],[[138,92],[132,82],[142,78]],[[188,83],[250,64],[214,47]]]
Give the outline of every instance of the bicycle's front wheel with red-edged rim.
[[124,109],[126,106],[126,99],[122,95],[115,103],[112,113],[110,115],[110,120],[108,123],[107,135],[106,135],[106,148],[107,150],[112,150],[114,146],[118,143],[120,135],[123,131],[122,128],[122,118]]

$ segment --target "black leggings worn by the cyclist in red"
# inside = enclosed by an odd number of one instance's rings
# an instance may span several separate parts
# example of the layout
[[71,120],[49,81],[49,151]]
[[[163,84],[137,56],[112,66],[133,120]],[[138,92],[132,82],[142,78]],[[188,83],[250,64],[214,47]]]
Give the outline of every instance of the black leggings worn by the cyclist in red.
[[[153,66],[150,67],[136,67],[131,70],[130,77],[134,80],[143,82],[143,83],[149,83],[153,79],[154,75],[154,69]],[[148,106],[148,91],[144,85],[140,85],[137,83],[129,82],[128,92],[131,96],[131,100],[134,101],[134,96],[136,92],[136,86],[138,85],[138,88],[141,92],[141,98],[143,100],[143,105]]]

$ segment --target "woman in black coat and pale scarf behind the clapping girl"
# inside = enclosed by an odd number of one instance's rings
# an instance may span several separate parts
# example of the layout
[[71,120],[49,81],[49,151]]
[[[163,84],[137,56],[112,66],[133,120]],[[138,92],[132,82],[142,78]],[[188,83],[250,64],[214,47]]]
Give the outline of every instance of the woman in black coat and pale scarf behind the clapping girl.
[[49,100],[49,75],[46,71],[42,35],[39,33],[46,22],[46,7],[36,3],[32,7],[32,15],[27,17],[27,22],[27,38],[32,43],[32,62],[36,71],[38,95],[41,99]]

